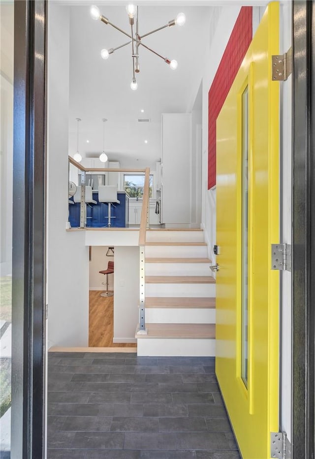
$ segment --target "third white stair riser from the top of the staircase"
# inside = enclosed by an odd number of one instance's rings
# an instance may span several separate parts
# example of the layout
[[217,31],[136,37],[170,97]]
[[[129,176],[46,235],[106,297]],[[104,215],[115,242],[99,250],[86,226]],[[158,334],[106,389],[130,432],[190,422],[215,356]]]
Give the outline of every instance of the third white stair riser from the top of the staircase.
[[209,263],[146,263],[146,275],[212,275]]

